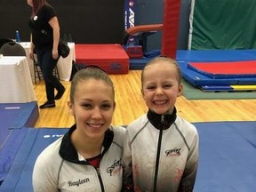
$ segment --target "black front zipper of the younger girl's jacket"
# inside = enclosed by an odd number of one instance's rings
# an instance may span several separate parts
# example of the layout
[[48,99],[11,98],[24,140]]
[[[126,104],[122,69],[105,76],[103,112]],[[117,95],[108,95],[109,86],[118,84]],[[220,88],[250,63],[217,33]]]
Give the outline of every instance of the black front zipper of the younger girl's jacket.
[[[164,115],[161,116],[161,124],[164,124]],[[155,177],[154,177],[154,189],[153,191],[156,192],[157,189],[157,177],[158,177],[158,168],[159,168],[159,160],[160,160],[160,152],[161,152],[161,145],[162,145],[162,137],[163,137],[163,127],[160,129],[159,137],[158,137],[158,144],[157,144],[157,152],[156,152],[156,169],[155,169]]]

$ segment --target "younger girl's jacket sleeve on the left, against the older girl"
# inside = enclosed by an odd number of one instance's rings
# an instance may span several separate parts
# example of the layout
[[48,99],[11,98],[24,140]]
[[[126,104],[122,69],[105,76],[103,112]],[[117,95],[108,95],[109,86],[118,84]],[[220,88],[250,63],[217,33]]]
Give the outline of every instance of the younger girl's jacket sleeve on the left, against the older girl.
[[132,192],[134,191],[132,182],[132,151],[128,131],[124,134],[123,171],[122,191]]

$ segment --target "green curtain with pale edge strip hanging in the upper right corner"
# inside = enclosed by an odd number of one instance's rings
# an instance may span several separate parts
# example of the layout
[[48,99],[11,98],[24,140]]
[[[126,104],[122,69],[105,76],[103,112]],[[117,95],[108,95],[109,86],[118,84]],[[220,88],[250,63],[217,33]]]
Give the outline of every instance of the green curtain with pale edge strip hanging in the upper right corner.
[[188,49],[256,48],[256,0],[192,0],[191,4]]

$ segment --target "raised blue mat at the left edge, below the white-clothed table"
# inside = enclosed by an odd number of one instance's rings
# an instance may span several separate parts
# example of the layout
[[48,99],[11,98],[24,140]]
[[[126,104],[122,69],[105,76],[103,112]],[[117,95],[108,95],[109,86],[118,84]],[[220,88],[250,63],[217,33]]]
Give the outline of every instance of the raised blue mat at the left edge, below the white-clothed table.
[[0,104],[0,182],[9,171],[28,131],[24,127],[33,127],[38,116],[36,101]]

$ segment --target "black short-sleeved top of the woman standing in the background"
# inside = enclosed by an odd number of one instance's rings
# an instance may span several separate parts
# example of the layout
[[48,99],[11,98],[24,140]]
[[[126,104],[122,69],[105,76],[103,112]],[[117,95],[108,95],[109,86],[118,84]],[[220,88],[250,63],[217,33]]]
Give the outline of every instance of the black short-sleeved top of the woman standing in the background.
[[35,44],[36,52],[52,49],[53,30],[48,23],[56,12],[50,4],[44,4],[36,16],[29,20],[29,27],[32,33],[32,42]]

